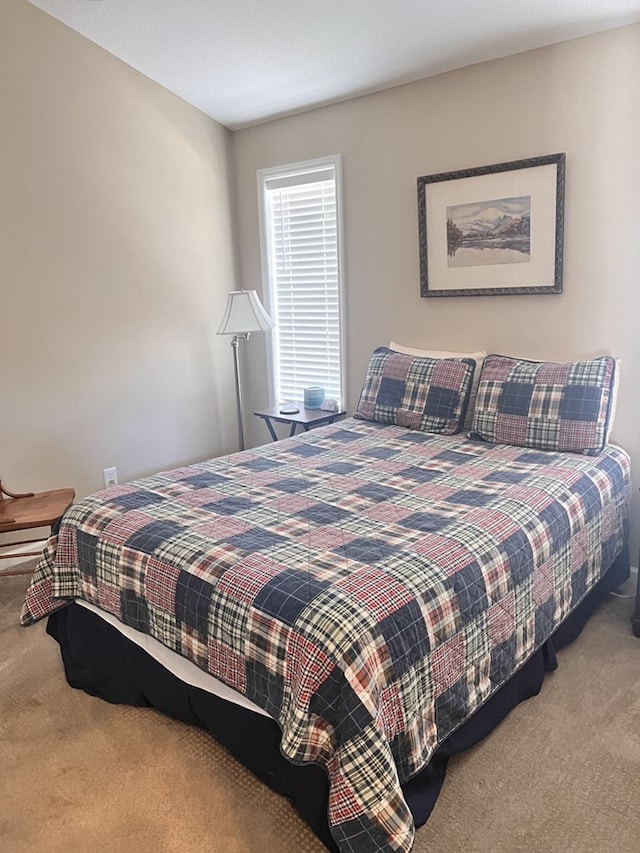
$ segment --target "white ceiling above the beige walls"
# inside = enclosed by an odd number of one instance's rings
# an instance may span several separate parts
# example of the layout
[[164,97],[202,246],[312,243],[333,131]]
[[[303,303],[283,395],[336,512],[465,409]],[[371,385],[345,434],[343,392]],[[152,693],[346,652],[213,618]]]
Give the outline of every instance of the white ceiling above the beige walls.
[[232,130],[640,21],[640,0],[30,0]]

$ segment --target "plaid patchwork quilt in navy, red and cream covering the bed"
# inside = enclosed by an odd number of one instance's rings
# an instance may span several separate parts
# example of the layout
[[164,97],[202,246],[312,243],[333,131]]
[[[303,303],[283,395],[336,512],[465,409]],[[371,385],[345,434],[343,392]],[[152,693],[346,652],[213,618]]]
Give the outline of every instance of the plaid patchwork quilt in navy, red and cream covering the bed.
[[400,783],[613,562],[629,469],[349,419],[80,501],[22,623],[80,597],[152,634],[326,768],[341,851],[408,851]]

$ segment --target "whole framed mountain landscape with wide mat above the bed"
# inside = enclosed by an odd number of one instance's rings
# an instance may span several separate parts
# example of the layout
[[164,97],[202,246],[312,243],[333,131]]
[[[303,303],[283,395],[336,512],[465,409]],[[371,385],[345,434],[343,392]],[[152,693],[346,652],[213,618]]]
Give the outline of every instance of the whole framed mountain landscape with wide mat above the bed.
[[562,293],[564,154],[418,178],[421,296]]

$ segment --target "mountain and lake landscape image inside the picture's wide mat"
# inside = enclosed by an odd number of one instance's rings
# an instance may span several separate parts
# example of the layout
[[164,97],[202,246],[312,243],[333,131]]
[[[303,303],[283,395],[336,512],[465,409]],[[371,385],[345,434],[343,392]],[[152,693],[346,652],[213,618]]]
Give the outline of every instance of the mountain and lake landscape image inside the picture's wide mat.
[[526,264],[531,261],[531,196],[446,208],[447,265]]

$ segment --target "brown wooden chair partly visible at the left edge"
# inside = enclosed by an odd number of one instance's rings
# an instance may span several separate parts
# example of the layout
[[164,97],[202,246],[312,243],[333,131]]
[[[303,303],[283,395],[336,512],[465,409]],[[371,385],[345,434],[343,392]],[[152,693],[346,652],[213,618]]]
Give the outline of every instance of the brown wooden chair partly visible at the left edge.
[[[15,494],[5,489],[0,480],[0,533],[12,533],[15,530],[30,530],[36,527],[49,527],[52,531],[75,498],[73,489],[55,489],[52,492],[26,492]],[[4,549],[42,539],[23,539],[14,542],[0,542],[0,559],[10,557],[39,557],[41,551],[13,551],[4,553]],[[26,575],[31,569],[0,568],[0,577]]]

